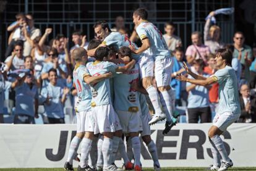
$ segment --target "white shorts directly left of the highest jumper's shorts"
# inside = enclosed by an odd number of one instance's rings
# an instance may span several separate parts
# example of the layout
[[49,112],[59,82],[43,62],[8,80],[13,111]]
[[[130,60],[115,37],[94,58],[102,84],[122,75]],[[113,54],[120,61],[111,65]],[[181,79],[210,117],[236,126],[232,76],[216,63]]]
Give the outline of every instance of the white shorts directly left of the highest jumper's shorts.
[[150,56],[142,56],[139,60],[140,78],[154,76],[154,59]]

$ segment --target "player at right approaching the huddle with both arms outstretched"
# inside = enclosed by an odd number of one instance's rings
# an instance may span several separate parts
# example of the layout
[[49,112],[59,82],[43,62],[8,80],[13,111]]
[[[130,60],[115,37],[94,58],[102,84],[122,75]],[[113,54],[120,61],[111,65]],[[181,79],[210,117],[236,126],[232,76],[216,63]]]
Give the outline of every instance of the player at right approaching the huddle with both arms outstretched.
[[[210,170],[227,170],[233,166],[233,162],[228,157],[224,143],[220,135],[229,125],[239,119],[241,114],[238,94],[238,82],[236,72],[231,67],[233,54],[228,49],[218,49],[216,52],[216,67],[218,70],[209,78],[205,78],[191,72],[184,63],[187,73],[194,79],[189,79],[183,75],[176,77],[177,80],[187,81],[195,85],[208,86],[213,83],[219,83],[219,109],[213,119],[213,125],[208,130],[209,141],[211,143],[211,152],[213,153],[213,165]],[[220,157],[222,161],[220,161]]]

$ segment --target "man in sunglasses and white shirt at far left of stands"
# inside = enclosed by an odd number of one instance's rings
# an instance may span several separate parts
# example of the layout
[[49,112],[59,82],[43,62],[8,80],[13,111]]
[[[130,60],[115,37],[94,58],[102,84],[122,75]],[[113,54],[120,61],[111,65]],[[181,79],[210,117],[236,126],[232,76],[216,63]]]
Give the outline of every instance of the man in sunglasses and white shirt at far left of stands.
[[7,70],[24,69],[23,44],[15,43],[12,55],[7,57],[4,63],[7,65]]

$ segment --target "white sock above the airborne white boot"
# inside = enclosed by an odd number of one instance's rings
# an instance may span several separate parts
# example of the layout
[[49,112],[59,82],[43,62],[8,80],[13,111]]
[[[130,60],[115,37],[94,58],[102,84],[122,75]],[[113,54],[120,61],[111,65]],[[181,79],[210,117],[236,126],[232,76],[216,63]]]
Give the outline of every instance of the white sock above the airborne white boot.
[[147,92],[148,92],[148,97],[150,98],[150,101],[155,109],[155,113],[162,114],[163,112],[161,110],[160,97],[156,88],[154,86],[149,86],[147,88]]

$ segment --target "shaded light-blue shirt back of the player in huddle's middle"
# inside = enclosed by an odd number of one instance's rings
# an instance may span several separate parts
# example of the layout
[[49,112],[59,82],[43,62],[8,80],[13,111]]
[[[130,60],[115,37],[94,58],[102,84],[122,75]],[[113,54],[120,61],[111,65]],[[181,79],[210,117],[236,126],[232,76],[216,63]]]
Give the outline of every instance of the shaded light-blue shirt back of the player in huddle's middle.
[[[139,97],[136,90],[131,88],[132,83],[139,81],[139,64],[114,79],[114,109],[119,111],[139,111]],[[133,111],[136,112],[136,111]]]

